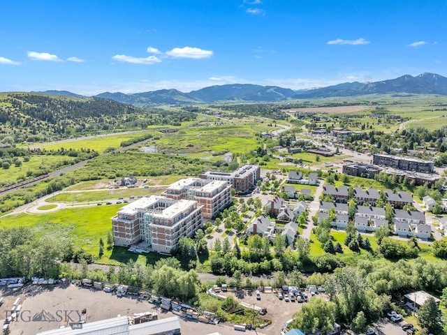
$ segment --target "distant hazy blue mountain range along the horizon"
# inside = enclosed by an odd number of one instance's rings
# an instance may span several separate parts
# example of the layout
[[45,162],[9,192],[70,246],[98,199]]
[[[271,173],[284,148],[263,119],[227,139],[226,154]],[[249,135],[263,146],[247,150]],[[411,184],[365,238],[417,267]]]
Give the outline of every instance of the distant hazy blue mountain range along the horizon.
[[[68,91],[43,91],[42,94],[81,97]],[[198,104],[232,102],[268,102],[293,99],[332,98],[337,96],[362,96],[367,94],[435,94],[447,95],[447,77],[422,73],[416,77],[402,75],[380,82],[344,82],[318,89],[294,91],[277,86],[255,84],[226,84],[205,87],[184,93],[177,89],[161,89],[135,94],[104,92],[95,96],[131,105]]]

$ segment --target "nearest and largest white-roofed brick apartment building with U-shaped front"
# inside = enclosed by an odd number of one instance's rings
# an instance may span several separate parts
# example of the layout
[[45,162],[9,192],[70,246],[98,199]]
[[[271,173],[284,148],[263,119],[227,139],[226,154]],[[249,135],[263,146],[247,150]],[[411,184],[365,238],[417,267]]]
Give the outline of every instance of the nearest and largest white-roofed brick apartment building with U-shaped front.
[[117,246],[144,241],[150,251],[170,253],[180,237],[191,237],[202,226],[202,207],[194,200],[152,195],[128,204],[112,218]]

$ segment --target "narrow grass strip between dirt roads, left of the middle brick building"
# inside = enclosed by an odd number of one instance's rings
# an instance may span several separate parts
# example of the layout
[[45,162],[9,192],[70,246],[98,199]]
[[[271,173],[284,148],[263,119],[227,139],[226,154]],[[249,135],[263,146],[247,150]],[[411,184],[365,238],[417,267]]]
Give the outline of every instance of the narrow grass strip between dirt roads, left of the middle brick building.
[[59,193],[47,199],[47,202],[86,202],[86,201],[101,201],[116,198],[135,198],[145,195],[154,195],[166,191],[166,187],[151,187],[151,188],[119,188],[102,191],[86,191],[86,192],[69,192]]

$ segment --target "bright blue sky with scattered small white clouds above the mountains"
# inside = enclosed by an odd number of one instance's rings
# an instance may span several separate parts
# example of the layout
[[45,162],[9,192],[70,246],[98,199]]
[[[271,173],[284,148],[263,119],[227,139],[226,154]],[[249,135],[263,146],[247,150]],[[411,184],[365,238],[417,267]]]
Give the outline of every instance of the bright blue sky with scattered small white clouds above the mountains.
[[0,91],[447,76],[445,0],[0,0]]

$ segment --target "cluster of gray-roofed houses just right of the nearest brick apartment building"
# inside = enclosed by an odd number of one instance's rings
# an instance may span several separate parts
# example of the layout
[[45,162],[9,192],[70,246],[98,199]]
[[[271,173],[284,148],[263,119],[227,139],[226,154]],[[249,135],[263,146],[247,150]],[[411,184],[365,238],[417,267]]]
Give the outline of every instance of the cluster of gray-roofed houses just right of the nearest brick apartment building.
[[[281,234],[286,239],[288,245],[293,245],[298,236],[298,223],[295,223],[296,218],[306,209],[307,205],[304,201],[291,205],[276,195],[265,207],[265,211],[269,216],[261,215],[254,218],[249,223],[247,234],[258,234],[271,240],[277,234]],[[276,218],[276,222],[269,217]],[[281,223],[281,225],[276,223]]]

